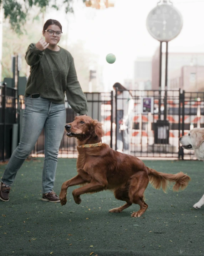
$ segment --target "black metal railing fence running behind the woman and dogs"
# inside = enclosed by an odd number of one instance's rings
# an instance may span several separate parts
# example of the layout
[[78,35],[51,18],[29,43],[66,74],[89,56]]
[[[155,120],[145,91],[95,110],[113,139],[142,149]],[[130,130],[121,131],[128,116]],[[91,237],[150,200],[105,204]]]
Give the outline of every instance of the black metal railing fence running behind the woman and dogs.
[[[6,97],[5,97],[6,92]],[[121,100],[128,97],[113,97],[113,92],[85,93],[90,115],[102,122],[105,136],[102,138],[117,150],[115,115]],[[130,154],[138,157],[194,159],[193,150],[183,150],[179,137],[193,127],[204,127],[204,93],[178,91],[131,91],[134,102],[129,127]],[[66,122],[72,122],[76,113],[66,104]],[[0,161],[12,153],[16,135],[14,125],[21,133],[24,96],[16,90],[0,86]],[[116,112],[115,112],[116,111]],[[123,132],[123,131],[121,131]],[[19,136],[20,137],[20,136]],[[44,131],[42,131],[32,156],[44,155]],[[63,136],[59,157],[76,158],[76,139]]]

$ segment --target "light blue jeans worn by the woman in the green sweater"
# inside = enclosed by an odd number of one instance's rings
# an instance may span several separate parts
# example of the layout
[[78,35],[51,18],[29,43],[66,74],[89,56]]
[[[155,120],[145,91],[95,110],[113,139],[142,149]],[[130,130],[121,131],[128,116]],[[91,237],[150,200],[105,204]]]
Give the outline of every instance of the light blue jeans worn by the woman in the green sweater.
[[64,104],[55,104],[45,98],[25,97],[25,110],[20,143],[11,155],[2,182],[11,186],[17,171],[30,155],[44,127],[45,159],[42,171],[42,193],[52,191],[57,168],[57,156],[66,124]]

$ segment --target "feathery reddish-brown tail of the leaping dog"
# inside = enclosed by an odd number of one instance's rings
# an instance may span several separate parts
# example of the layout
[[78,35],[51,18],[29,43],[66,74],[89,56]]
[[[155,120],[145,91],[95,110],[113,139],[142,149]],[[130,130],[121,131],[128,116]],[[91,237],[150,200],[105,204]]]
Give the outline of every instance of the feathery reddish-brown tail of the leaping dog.
[[154,169],[147,167],[149,182],[155,189],[162,189],[166,193],[166,189],[171,182],[175,182],[173,186],[174,191],[178,191],[179,189],[184,189],[187,187],[189,181],[191,180],[187,174],[183,172],[177,174],[169,174],[169,173],[160,173]]

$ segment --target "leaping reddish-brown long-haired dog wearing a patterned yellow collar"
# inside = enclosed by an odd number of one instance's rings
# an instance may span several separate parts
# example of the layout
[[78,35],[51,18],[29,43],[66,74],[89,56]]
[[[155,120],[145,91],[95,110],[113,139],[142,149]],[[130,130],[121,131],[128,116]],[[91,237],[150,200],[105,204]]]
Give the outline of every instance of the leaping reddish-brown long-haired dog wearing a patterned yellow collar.
[[122,212],[135,203],[139,204],[140,209],[131,216],[140,217],[148,207],[143,200],[143,194],[149,181],[156,189],[162,186],[164,192],[168,182],[175,182],[173,190],[178,191],[179,188],[184,189],[190,181],[190,177],[182,172],[157,172],[145,166],[137,157],[114,151],[107,144],[101,143],[101,137],[104,135],[102,125],[89,116],[75,117],[65,129],[68,137],[76,137],[78,140],[78,174],[62,184],[62,206],[67,202],[67,188],[83,185],[72,192],[77,204],[81,203],[81,194],[110,189],[114,191],[116,199],[125,201],[126,204],[109,212]]

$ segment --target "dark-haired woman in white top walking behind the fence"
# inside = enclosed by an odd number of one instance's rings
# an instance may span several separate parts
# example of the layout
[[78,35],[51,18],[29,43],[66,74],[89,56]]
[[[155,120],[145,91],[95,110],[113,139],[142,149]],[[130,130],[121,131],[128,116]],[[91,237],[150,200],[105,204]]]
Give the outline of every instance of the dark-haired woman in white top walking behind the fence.
[[[134,102],[131,92],[120,83],[114,83],[113,89],[117,88],[117,150],[130,154],[129,129],[131,127]],[[113,115],[115,111],[113,111]]]

